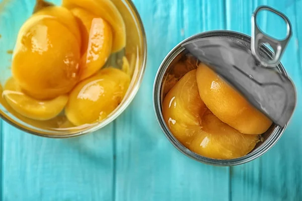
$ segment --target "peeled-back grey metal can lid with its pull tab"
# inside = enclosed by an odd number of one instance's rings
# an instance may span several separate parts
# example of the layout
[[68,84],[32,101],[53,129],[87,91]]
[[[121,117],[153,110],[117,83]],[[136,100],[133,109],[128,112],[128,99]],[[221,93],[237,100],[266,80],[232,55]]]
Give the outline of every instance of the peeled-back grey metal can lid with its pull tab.
[[[263,9],[272,11],[285,20],[288,28],[286,39],[272,39],[258,29],[255,17]],[[251,50],[236,40],[220,37],[199,38],[182,46],[237,89],[275,124],[284,127],[293,114],[296,93],[292,81],[287,75],[279,73],[276,66],[291,37],[290,22],[270,7],[259,7],[253,14],[252,21]],[[260,45],[266,42],[275,51],[272,60],[265,59],[259,53]]]

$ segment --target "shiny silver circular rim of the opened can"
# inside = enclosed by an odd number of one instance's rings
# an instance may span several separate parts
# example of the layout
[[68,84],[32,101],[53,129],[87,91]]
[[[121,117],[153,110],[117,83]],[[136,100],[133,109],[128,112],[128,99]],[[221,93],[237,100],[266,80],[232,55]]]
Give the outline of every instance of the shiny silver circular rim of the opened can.
[[[271,131],[271,135],[265,140],[265,143],[260,145],[258,148],[256,148],[253,152],[242,156],[240,158],[235,159],[228,159],[228,160],[220,160],[220,159],[212,159],[207,158],[204,156],[201,156],[199,154],[194,153],[193,151],[186,148],[184,145],[182,145],[175,136],[171,133],[170,129],[167,127],[163,114],[162,114],[162,107],[161,107],[161,89],[162,89],[162,81],[163,77],[166,73],[167,68],[171,64],[171,62],[175,59],[177,55],[179,55],[184,48],[181,47],[181,45],[185,42],[188,42],[190,40],[196,39],[196,38],[204,38],[204,37],[211,37],[211,36],[230,36],[232,38],[237,38],[246,42],[250,43],[251,37],[242,34],[239,32],[234,31],[226,31],[226,30],[216,30],[216,31],[207,31],[203,33],[199,33],[196,35],[193,35],[183,41],[181,41],[178,45],[176,45],[164,58],[162,61],[158,72],[155,77],[154,87],[153,87],[153,103],[154,103],[154,111],[156,115],[156,119],[164,132],[165,136],[168,138],[168,140],[173,144],[174,147],[176,147],[181,153],[185,154],[186,156],[205,163],[209,165],[215,165],[215,166],[234,166],[234,165],[240,165],[247,163],[249,161],[252,161],[263,154],[265,154],[268,150],[270,150],[277,141],[281,138],[284,130],[286,129],[287,125],[285,125],[283,128],[276,126],[273,131]],[[268,57],[272,57],[273,53],[265,46],[262,46],[260,50]],[[278,69],[282,74],[287,76],[287,73],[281,63],[277,65]]]

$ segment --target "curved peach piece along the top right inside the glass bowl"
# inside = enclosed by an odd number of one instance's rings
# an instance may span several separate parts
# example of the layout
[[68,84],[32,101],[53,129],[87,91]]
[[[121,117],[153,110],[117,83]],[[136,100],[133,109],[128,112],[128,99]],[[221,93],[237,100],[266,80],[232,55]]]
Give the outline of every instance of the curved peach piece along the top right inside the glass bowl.
[[82,8],[106,20],[112,27],[112,52],[118,52],[126,45],[126,28],[123,18],[110,0],[63,0],[67,9]]

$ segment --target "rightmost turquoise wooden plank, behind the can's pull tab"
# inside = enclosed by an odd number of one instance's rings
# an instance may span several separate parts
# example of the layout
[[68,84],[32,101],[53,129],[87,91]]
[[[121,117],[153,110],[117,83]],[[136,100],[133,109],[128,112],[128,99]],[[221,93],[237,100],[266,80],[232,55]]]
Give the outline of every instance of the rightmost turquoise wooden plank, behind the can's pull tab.
[[[301,3],[299,4],[301,7]],[[288,74],[296,84],[297,91],[301,91],[301,61],[298,37],[301,40],[300,29],[302,21],[295,16],[298,5],[294,1],[227,1],[228,29],[244,32],[250,35],[250,14],[258,5],[268,5],[283,12],[290,19],[293,27],[293,36],[283,55],[282,63]],[[244,11],[244,12],[242,12]],[[299,11],[300,12],[300,11]],[[266,33],[279,34],[284,27],[270,15],[264,15],[261,27]],[[300,23],[300,24],[299,24]],[[298,93],[298,99],[301,96]],[[301,103],[297,103],[296,111],[288,128],[279,142],[264,156],[248,164],[232,167],[232,200],[300,200],[301,191],[301,164],[302,129],[300,118]]]

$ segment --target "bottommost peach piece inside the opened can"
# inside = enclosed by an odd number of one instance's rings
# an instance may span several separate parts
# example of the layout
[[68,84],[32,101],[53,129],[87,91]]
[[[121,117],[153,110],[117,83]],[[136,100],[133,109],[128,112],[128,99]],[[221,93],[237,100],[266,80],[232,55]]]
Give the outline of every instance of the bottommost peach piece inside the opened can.
[[258,135],[245,135],[221,122],[209,110],[202,117],[201,132],[189,149],[215,159],[234,159],[247,155],[259,142]]

